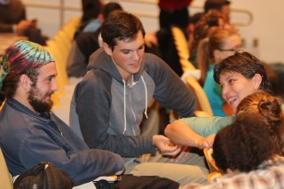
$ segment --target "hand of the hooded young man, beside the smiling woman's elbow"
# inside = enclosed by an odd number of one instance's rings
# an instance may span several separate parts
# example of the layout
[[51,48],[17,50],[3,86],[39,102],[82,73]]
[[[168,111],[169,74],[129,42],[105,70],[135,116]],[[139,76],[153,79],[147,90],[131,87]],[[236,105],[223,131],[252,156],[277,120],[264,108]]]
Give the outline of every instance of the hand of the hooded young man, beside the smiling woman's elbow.
[[153,136],[153,145],[156,146],[163,155],[176,156],[181,151],[180,146],[174,145],[170,142],[170,138],[166,138],[162,135]]

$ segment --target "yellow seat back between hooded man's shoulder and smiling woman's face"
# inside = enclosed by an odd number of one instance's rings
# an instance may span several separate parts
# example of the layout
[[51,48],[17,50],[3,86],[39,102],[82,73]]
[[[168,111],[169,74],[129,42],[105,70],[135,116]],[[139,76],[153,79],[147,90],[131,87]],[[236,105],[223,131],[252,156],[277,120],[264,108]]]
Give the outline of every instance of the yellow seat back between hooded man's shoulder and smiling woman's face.
[[207,98],[206,93],[203,91],[200,83],[193,77],[188,76],[185,78],[185,83],[188,88],[193,91],[195,98],[197,99],[196,110],[200,110],[209,114],[209,116],[213,116],[213,111],[209,103],[209,99]]

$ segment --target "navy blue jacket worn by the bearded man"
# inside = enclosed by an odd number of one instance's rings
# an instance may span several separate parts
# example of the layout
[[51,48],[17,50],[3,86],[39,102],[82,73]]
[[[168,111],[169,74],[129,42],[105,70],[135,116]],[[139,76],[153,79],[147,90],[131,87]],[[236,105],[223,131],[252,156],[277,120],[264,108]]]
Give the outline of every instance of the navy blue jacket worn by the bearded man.
[[81,185],[123,169],[119,155],[90,149],[56,115],[43,118],[15,99],[0,113],[0,146],[12,176],[50,161]]

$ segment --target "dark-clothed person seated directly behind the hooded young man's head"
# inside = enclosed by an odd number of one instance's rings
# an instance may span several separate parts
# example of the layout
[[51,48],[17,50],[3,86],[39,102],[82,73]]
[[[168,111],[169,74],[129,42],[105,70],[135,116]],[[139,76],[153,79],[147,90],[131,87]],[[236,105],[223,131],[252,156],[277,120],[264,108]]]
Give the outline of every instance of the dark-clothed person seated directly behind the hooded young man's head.
[[[99,15],[101,22],[105,20],[111,12],[122,10],[120,4],[108,3],[103,7]],[[83,32],[77,35],[72,43],[67,58],[67,75],[68,77],[82,78],[87,73],[87,66],[91,53],[101,47],[100,28],[95,32]]]

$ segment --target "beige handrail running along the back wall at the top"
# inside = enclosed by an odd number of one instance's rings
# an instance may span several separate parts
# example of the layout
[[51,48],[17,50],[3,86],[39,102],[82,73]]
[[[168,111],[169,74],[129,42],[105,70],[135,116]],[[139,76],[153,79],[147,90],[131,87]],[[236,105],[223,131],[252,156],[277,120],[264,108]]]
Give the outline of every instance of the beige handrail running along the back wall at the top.
[[[64,24],[64,11],[75,11],[81,12],[82,9],[80,6],[70,6],[64,4],[65,0],[60,0],[60,4],[41,4],[41,3],[25,3],[28,7],[35,7],[35,8],[46,8],[46,9],[59,9],[60,11],[60,26]],[[129,2],[135,4],[157,4],[154,0],[120,0],[120,2]],[[195,3],[190,5],[190,9],[201,9],[203,11],[203,4]],[[248,16],[248,20],[232,20],[232,23],[237,26],[246,27],[249,26],[253,21],[253,14],[247,9],[231,7],[231,12],[233,13],[241,13],[246,14]],[[140,17],[146,18],[154,18],[158,17],[158,12],[133,12],[134,14]]]

